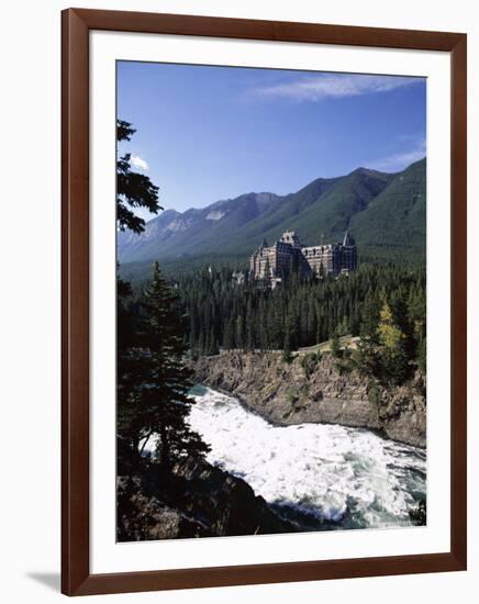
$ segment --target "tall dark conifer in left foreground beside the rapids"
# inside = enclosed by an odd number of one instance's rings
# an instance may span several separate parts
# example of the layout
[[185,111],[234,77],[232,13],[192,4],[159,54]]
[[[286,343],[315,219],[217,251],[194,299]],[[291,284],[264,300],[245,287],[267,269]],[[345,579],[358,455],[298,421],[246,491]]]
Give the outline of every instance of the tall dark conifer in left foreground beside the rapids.
[[120,299],[118,353],[118,433],[138,451],[156,436],[163,467],[186,455],[203,456],[209,447],[192,432],[188,415],[190,370],[182,358],[185,321],[178,299],[157,262],[140,304]]

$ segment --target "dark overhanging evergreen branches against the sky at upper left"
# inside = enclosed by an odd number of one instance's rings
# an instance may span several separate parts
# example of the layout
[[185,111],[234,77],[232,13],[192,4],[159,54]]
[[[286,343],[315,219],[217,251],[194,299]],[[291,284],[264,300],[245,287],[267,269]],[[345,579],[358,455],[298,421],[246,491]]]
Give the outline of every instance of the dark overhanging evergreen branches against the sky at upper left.
[[[135,130],[129,122],[116,120],[116,139],[130,141]],[[120,231],[129,228],[142,233],[145,221],[132,209],[145,208],[157,214],[163,208],[158,204],[158,187],[140,172],[134,172],[130,164],[131,154],[125,154],[116,161],[116,222]]]

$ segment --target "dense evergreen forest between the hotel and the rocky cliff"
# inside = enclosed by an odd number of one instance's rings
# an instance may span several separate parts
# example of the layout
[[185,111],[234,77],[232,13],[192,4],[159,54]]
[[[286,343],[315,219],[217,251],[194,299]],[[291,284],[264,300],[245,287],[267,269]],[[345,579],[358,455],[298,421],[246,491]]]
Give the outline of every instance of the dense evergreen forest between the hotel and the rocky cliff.
[[[397,265],[361,266],[347,279],[305,279],[292,275],[275,290],[229,268],[181,275],[174,283],[187,316],[183,343],[192,356],[220,348],[292,353],[332,339],[341,371],[357,368],[385,385],[402,383],[415,366],[425,370],[425,271]],[[142,300],[133,288],[133,299]],[[339,346],[347,327],[360,336],[356,350]],[[300,355],[305,374],[313,356]],[[305,363],[303,366],[303,363]]]

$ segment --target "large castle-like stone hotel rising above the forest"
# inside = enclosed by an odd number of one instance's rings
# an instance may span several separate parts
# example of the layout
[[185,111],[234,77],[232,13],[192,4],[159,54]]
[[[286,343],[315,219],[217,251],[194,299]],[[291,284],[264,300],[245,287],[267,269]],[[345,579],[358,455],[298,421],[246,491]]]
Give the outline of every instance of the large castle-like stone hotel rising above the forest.
[[249,260],[255,279],[269,280],[272,287],[292,268],[320,278],[347,275],[357,268],[356,244],[346,231],[342,244],[303,246],[294,231],[286,231],[271,246],[264,239]]

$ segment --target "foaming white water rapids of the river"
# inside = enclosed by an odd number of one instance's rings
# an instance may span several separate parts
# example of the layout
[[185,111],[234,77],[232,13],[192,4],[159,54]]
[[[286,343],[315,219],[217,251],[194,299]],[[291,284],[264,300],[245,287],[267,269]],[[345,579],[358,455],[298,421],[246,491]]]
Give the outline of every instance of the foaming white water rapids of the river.
[[331,528],[411,525],[426,492],[426,454],[365,429],[275,426],[239,402],[196,387],[190,424],[211,446],[208,460],[243,478],[281,510]]

